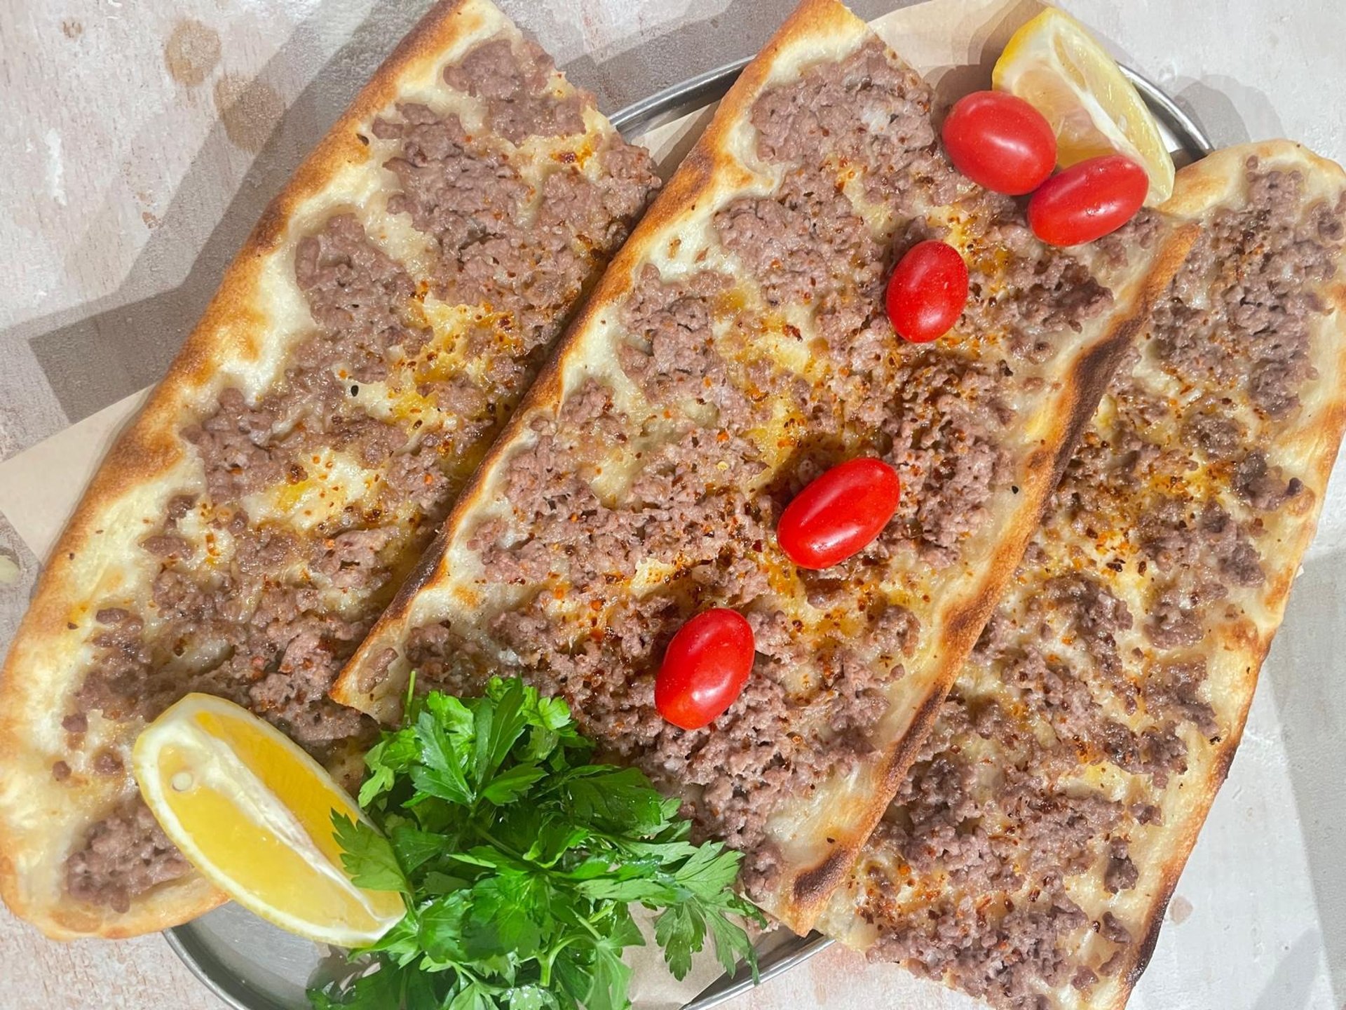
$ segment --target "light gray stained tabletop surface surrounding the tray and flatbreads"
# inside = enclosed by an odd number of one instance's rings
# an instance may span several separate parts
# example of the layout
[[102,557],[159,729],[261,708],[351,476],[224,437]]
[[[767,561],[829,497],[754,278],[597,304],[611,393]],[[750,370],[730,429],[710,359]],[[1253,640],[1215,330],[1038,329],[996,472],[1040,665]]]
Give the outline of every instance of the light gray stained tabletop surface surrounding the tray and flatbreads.
[[[503,0],[614,109],[754,51],[789,0]],[[864,16],[898,4],[856,3]],[[1346,155],[1341,0],[1067,0],[1217,144],[1289,136]],[[423,0],[0,0],[0,457],[157,376],[267,199]],[[164,47],[219,38],[201,83]],[[222,114],[223,110],[223,114]],[[256,149],[256,148],[260,148]],[[1132,1002],[1339,1010],[1346,1002],[1346,500],[1265,667],[1244,746]],[[0,517],[0,649],[36,559]],[[1269,689],[1268,689],[1269,688]],[[0,913],[0,1006],[206,1007],[156,939],[55,947]],[[24,966],[24,984],[13,984]],[[742,1006],[970,1003],[828,951]]]

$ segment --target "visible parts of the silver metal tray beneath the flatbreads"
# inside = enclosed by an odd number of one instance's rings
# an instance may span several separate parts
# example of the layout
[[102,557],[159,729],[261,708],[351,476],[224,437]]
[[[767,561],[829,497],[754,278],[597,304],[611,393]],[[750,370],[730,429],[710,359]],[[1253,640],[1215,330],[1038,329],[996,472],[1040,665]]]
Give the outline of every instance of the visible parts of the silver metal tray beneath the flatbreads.
[[[651,94],[611,117],[627,137],[672,123],[719,101],[747,65],[740,59]],[[1179,164],[1205,158],[1213,145],[1199,125],[1156,83],[1129,67],[1123,73],[1159,120],[1168,149]],[[234,1010],[308,1010],[306,990],[343,974],[341,951],[292,936],[245,912],[225,905],[186,925],[164,931],[168,945],[217,997]],[[785,928],[758,941],[760,979],[775,978],[832,943],[820,933],[794,936]],[[682,1010],[709,1010],[752,987],[746,968],[723,975]]]

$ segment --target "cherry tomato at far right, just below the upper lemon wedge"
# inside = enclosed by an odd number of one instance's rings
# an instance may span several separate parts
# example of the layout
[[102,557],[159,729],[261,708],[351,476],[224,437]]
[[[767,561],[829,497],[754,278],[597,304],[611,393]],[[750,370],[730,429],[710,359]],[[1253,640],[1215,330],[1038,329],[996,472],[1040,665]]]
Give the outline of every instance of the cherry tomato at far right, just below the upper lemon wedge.
[[1042,183],[1028,201],[1028,226],[1049,245],[1092,242],[1131,221],[1148,191],[1149,176],[1129,158],[1090,158]]

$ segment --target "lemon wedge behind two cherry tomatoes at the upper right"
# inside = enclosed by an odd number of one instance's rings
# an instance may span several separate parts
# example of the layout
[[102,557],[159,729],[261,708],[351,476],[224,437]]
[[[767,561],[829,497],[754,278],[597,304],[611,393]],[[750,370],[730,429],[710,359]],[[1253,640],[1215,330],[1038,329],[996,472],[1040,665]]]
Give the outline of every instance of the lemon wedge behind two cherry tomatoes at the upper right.
[[1019,28],[991,82],[1046,116],[1062,168],[1098,155],[1125,155],[1149,176],[1145,203],[1168,199],[1174,159],[1159,124],[1117,62],[1069,13],[1049,7]]

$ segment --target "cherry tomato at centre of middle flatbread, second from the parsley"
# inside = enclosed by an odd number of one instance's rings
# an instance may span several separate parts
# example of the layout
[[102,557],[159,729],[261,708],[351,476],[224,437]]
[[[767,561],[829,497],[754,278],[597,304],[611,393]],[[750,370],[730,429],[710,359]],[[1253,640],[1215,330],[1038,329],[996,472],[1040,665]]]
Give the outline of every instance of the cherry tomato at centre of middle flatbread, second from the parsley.
[[801,568],[829,568],[859,553],[898,510],[898,471],[882,459],[849,459],[794,496],[775,539]]

